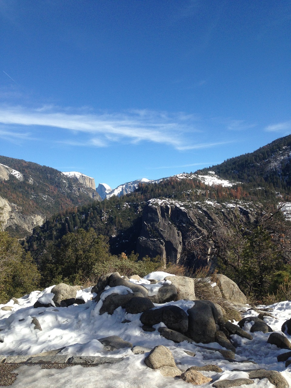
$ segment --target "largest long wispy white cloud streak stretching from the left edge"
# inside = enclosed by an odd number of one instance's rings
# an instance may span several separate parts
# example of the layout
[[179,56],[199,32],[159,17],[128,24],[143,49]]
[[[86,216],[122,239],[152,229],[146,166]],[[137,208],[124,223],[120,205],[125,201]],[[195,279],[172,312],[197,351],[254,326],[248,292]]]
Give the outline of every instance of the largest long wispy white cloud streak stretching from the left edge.
[[[76,113],[77,112],[77,113]],[[68,145],[90,145],[105,147],[111,142],[154,142],[170,145],[180,151],[200,149],[225,144],[210,142],[193,144],[189,133],[202,133],[197,130],[194,115],[178,112],[170,114],[164,111],[135,110],[122,113],[88,113],[76,109],[60,109],[51,105],[37,109],[20,106],[0,107],[0,123],[6,128],[13,126],[53,127],[66,130],[68,139],[62,140]],[[81,141],[71,139],[72,134],[86,134]],[[80,140],[80,139],[78,139]]]

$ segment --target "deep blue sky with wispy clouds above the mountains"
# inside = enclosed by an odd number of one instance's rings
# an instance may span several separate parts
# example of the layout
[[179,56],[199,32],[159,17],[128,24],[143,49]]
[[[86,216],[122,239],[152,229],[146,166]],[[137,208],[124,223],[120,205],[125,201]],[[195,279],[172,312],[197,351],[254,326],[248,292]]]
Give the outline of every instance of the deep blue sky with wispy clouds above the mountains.
[[0,154],[111,187],[291,133],[291,2],[0,0]]

